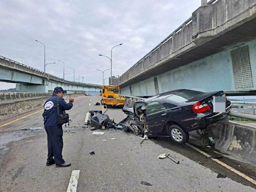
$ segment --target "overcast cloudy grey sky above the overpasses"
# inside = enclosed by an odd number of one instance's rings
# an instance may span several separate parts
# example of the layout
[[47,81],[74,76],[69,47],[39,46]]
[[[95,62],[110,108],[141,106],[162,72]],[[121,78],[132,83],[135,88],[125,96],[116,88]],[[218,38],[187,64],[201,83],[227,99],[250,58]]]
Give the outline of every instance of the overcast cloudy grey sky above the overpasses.
[[[100,84],[110,69],[121,75],[189,18],[201,0],[1,0],[0,55],[65,79]],[[110,76],[110,70],[105,77]],[[78,80],[77,80],[78,81]],[[80,78],[81,81],[81,78]],[[0,82],[0,89],[15,87]]]

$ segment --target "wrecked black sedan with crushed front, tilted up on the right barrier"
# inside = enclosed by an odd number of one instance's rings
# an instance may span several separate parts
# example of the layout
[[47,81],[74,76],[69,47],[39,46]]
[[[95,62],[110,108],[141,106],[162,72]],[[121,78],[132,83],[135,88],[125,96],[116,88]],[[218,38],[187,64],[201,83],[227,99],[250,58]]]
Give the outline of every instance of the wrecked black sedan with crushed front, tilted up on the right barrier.
[[135,134],[169,135],[174,142],[185,143],[189,131],[204,129],[226,117],[230,111],[231,103],[225,99],[225,112],[213,112],[213,96],[225,97],[225,94],[223,91],[201,92],[189,89],[163,92],[134,102],[133,108],[123,108],[127,118],[120,124]]

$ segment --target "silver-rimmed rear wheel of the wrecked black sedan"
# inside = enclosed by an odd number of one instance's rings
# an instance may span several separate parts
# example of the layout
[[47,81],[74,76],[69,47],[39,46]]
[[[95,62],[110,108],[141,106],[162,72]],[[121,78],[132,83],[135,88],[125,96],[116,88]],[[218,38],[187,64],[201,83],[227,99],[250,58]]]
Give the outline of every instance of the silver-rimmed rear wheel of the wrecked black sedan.
[[170,135],[170,138],[179,144],[185,143],[188,138],[189,134],[183,130],[179,125],[173,124],[169,126],[168,133]]

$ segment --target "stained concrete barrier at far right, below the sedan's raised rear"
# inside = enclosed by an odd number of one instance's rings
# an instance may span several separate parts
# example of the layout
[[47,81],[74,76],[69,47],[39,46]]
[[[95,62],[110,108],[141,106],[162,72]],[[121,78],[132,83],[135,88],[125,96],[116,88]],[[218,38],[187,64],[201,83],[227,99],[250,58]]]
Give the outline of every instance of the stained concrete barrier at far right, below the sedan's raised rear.
[[215,148],[219,151],[256,165],[256,128],[219,121],[209,125],[205,132],[218,138]]

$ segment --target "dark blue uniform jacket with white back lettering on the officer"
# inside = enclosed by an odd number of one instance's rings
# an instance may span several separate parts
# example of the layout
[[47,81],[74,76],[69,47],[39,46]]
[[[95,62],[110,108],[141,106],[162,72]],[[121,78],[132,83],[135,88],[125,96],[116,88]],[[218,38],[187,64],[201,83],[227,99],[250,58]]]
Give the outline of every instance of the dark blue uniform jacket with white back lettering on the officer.
[[[59,126],[57,124],[57,95],[53,94],[44,103],[44,112],[42,113],[44,126]],[[63,98],[59,97],[59,114],[63,114],[64,110],[72,108],[73,103],[66,103]]]

